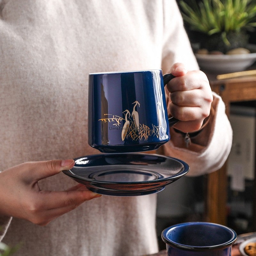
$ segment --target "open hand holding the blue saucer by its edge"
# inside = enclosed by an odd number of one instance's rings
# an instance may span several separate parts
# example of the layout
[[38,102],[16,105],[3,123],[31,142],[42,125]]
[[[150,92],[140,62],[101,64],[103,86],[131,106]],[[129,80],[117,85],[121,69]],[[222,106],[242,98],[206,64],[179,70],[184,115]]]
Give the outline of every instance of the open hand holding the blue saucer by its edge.
[[0,172],[0,214],[44,226],[84,201],[100,195],[78,184],[66,191],[44,191],[38,181],[74,166],[74,160],[27,162]]

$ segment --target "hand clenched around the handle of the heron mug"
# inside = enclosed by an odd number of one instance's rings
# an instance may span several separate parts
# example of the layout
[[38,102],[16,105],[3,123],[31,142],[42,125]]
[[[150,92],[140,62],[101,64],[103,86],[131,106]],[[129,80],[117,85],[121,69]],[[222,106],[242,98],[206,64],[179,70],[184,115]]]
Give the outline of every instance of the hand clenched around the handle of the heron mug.
[[208,78],[200,70],[187,71],[182,63],[175,63],[170,73],[176,77],[166,85],[169,111],[180,120],[174,127],[182,132],[197,131],[209,116],[213,101]]

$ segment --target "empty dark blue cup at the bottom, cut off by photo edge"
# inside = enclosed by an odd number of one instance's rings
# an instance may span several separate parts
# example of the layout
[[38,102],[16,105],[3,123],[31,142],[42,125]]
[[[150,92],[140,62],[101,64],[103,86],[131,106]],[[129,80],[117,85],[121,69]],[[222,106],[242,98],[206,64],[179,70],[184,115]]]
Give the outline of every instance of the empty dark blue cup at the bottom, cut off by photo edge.
[[164,229],[168,256],[231,256],[236,232],[220,224],[187,222]]

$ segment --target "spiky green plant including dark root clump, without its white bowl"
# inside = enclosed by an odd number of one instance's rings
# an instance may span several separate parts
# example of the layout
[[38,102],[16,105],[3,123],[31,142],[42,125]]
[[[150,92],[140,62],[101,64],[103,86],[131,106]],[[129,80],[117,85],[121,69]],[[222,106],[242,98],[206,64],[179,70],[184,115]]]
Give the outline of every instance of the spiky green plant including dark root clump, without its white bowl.
[[246,53],[247,31],[256,26],[255,0],[201,0],[198,3],[191,0],[189,3],[180,1],[181,13],[190,30],[200,33],[200,48],[225,54],[238,48],[237,53]]

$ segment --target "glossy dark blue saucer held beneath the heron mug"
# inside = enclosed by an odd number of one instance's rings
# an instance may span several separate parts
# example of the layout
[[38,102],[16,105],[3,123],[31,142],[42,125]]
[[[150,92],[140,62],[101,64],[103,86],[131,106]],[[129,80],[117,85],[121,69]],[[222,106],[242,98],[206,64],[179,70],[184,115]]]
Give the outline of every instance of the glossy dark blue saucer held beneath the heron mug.
[[91,191],[109,196],[156,193],[189,170],[179,159],[155,154],[98,154],[74,160],[75,166],[63,172]]

